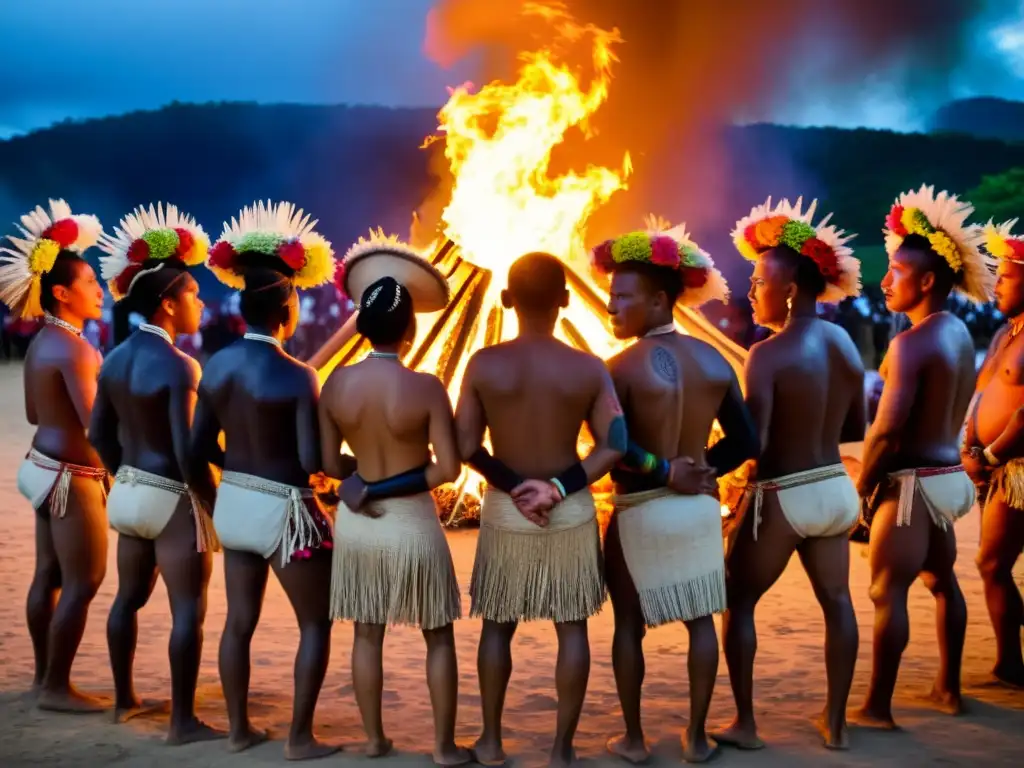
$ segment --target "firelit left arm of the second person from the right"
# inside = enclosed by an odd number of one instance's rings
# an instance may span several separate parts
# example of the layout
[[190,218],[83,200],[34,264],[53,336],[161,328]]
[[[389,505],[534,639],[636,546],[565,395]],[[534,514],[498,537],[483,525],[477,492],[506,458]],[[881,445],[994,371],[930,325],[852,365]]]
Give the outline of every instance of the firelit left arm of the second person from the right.
[[905,341],[905,336],[895,337],[886,354],[882,398],[874,422],[864,437],[860,478],[857,481],[857,492],[862,497],[870,496],[886,474],[886,460],[899,446],[899,436],[906,426],[918,391],[918,368],[911,354],[903,349]]

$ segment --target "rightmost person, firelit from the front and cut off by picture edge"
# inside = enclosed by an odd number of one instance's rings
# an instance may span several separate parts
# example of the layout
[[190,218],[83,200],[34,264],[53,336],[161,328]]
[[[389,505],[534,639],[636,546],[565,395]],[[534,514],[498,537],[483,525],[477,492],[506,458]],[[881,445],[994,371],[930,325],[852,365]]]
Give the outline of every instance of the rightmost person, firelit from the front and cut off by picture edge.
[[978,568],[995,632],[994,678],[1024,687],[1024,604],[1013,569],[1024,549],[1024,239],[1016,220],[985,227],[985,247],[998,260],[995,302],[1008,317],[988,349],[968,413],[961,458],[983,504]]

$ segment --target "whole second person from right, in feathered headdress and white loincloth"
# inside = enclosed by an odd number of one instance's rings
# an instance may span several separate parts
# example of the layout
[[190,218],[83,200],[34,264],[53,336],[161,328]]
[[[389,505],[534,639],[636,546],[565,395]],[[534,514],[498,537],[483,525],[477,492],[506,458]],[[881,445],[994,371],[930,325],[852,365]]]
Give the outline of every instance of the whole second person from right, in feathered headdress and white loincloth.
[[920,575],[939,611],[939,674],[932,697],[961,709],[967,605],[953,563],[953,523],[975,501],[959,456],[961,427],[974,392],[974,341],[944,311],[952,291],[991,299],[993,276],[968,224],[971,204],[923,185],[904,193],[886,219],[886,306],[911,327],[896,336],[879,373],[878,415],[864,439],[857,490],[870,525],[874,648],[871,682],[855,722],[893,728],[892,696],[909,636],[907,593]]

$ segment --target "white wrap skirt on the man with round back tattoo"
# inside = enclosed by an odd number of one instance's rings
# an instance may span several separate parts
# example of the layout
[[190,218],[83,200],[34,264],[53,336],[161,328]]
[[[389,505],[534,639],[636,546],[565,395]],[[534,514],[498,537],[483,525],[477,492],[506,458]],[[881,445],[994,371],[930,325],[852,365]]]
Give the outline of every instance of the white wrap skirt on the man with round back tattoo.
[[626,567],[648,627],[726,608],[722,508],[710,496],[668,488],[614,497]]

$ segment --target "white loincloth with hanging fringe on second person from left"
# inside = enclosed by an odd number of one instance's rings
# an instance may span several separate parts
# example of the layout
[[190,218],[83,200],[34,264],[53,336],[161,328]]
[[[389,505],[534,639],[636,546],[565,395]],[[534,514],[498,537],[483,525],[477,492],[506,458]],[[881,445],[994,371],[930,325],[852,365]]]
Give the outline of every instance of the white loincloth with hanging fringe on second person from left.
[[154,541],[183,502],[191,508],[196,522],[196,551],[216,552],[219,545],[210,524],[210,513],[188,486],[135,467],[118,469],[106,498],[106,518],[119,534]]

